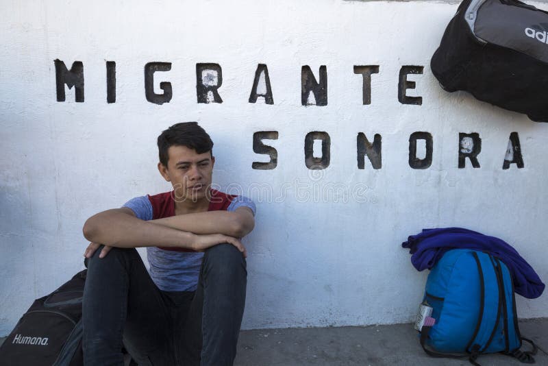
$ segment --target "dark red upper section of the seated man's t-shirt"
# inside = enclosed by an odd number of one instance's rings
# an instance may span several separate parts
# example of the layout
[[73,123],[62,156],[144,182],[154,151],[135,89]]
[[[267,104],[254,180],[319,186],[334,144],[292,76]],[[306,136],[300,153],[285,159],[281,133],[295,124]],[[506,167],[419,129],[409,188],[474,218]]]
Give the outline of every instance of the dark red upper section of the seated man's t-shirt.
[[[211,200],[208,211],[226,211],[235,195],[227,195],[216,189],[211,191]],[[175,216],[175,199],[173,199],[173,191],[160,193],[158,195],[149,195],[149,201],[152,204],[152,219],[163,219],[164,217]],[[192,252],[190,249],[175,248],[175,247],[159,247],[172,252]]]

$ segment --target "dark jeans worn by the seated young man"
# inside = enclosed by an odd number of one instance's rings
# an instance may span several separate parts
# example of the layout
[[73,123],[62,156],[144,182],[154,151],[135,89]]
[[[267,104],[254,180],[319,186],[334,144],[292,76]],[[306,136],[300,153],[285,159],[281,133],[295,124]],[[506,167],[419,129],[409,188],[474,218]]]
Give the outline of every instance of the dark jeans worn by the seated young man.
[[229,244],[206,250],[196,291],[160,291],[136,249],[98,249],[84,290],[84,363],[232,365],[245,305],[245,258]]

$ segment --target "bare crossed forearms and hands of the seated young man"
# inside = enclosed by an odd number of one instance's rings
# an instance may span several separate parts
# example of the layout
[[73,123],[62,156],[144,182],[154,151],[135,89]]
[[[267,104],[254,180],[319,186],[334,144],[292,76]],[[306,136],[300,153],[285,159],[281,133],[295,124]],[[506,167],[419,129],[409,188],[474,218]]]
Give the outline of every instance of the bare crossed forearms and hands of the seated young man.
[[84,236],[90,245],[84,256],[90,258],[97,248],[103,258],[110,247],[181,247],[205,250],[221,243],[230,243],[244,255],[245,247],[238,238],[247,235],[255,225],[253,212],[247,207],[233,212],[196,212],[144,221],[130,208],[115,208],[99,212],[84,224]]

